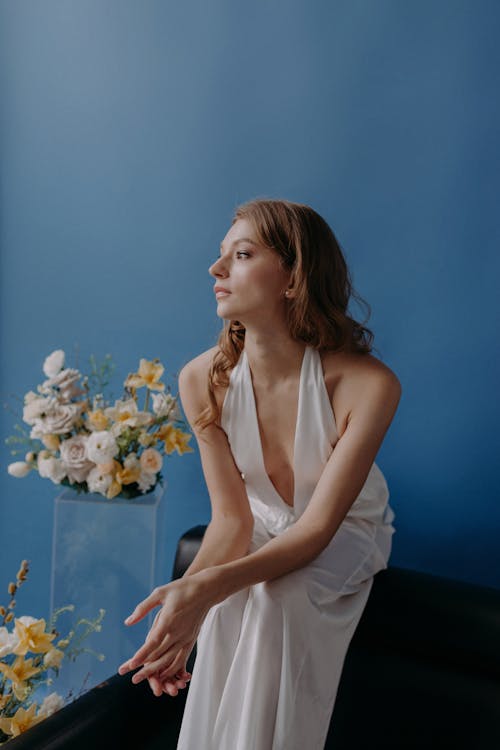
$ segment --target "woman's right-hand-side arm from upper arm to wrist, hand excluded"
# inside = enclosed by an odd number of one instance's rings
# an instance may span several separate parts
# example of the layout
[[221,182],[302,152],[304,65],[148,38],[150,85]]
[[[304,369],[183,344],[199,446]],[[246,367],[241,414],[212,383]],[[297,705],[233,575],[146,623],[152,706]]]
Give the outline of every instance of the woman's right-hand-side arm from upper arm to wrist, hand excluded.
[[301,568],[322,552],[358,497],[400,397],[401,385],[391,371],[371,375],[302,516],[256,552],[200,574],[213,603]]

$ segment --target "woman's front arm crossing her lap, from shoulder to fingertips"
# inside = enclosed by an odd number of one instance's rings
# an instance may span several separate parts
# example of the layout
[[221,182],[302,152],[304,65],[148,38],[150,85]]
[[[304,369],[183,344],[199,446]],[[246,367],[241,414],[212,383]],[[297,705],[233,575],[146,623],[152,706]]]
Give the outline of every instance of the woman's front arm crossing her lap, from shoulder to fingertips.
[[134,683],[156,672],[162,679],[170,679],[185,665],[212,606],[240,589],[279,578],[317,557],[358,497],[400,397],[400,383],[391,371],[372,373],[365,379],[349,410],[348,425],[302,516],[256,552],[155,589],[127,621],[137,622],[153,607],[162,605],[152,637],[120,667],[120,673],[143,665],[133,676]]

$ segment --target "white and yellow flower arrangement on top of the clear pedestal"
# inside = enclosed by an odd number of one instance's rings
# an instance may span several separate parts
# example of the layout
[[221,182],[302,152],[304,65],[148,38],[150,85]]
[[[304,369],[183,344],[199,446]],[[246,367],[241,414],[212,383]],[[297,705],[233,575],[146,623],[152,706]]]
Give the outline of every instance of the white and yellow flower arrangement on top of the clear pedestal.
[[[31,431],[28,435],[16,425],[18,434],[6,441],[29,443],[30,450],[24,461],[9,464],[8,472],[24,477],[36,470],[55,484],[108,499],[150,492],[163,482],[163,453],[193,450],[177,399],[160,380],[164,367],[158,359],[141,359],[138,371],[125,380],[123,397],[111,405],[101,392],[113,370],[111,357],[99,367],[91,357],[90,364],[90,375],[82,376],[65,367],[61,349],[45,359],[46,380],[24,397],[23,420]],[[146,389],[142,409],[140,388]]]

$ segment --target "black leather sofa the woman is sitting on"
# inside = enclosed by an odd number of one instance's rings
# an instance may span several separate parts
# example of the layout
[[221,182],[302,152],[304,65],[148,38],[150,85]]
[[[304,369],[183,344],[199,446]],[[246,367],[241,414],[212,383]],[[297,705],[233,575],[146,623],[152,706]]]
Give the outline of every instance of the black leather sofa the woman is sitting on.
[[[204,530],[180,539],[173,578]],[[110,677],[9,750],[174,750],[186,691],[155,698],[130,677]],[[330,748],[500,748],[500,590],[391,566],[378,573],[346,657]]]

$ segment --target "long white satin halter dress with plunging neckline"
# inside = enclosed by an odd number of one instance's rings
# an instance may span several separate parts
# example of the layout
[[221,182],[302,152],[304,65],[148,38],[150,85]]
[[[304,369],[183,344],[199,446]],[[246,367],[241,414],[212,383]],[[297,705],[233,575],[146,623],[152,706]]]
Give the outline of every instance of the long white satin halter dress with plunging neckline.
[[[221,424],[246,484],[254,551],[301,516],[338,440],[318,351],[305,349],[300,373],[293,508],[265,470],[245,350]],[[347,648],[373,576],[388,564],[395,531],[388,498],[374,463],[318,557],[209,610],[177,750],[323,750]]]

